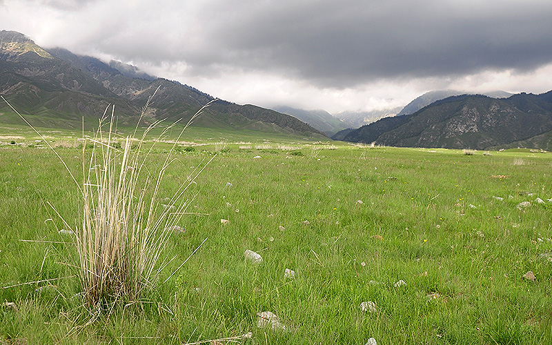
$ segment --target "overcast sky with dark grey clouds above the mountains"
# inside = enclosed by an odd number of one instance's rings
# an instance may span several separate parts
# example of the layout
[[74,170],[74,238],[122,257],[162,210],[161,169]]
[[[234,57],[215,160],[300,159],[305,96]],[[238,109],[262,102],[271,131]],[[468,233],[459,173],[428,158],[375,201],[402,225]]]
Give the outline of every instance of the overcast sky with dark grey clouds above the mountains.
[[0,0],[1,30],[214,97],[369,111],[552,90],[550,0]]

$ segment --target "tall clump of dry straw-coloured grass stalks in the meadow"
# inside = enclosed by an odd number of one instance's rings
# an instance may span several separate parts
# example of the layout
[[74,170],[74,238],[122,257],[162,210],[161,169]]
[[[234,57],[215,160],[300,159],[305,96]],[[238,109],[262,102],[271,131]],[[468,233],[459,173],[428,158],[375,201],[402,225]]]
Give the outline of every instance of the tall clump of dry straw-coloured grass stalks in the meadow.
[[[72,261],[78,270],[83,297],[91,306],[115,306],[119,301],[135,302],[140,299],[145,289],[155,286],[161,271],[175,258],[166,255],[166,247],[172,227],[184,215],[189,204],[189,200],[183,201],[186,190],[195,183],[197,176],[214,158],[193,171],[193,178],[179,187],[168,202],[169,207],[159,207],[159,186],[166,168],[173,160],[172,152],[177,142],[192,121],[216,99],[207,103],[190,118],[174,141],[164,163],[157,170],[150,170],[148,159],[155,143],[159,142],[176,123],[166,127],[146,150],[146,136],[161,122],[151,124],[140,139],[135,139],[150,101],[151,98],[144,106],[132,136],[126,137],[120,148],[113,145],[115,106],[112,107],[110,118],[106,116],[106,108],[95,137],[84,138],[83,135],[81,183],[75,179],[75,175],[56,150],[48,144],[68,170],[82,197],[80,228],[73,228],[66,219],[55,212],[64,226],[72,229],[75,235],[77,257]],[[12,107],[10,103],[8,105]],[[17,112],[13,107],[12,109]],[[19,112],[17,114],[40,135]],[[103,127],[106,125],[109,129],[104,132]],[[182,264],[179,268],[181,266]]]

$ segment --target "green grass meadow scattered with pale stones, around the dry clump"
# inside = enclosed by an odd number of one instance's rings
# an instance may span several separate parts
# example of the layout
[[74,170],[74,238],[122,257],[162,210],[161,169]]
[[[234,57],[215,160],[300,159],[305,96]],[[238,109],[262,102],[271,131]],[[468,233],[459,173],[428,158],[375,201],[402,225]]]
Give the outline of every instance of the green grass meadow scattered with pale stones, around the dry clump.
[[[34,138],[2,139],[0,344],[552,344],[550,153],[210,139],[177,148],[158,192],[216,155],[186,191],[175,260],[99,315],[59,232],[59,216],[81,224],[77,187]],[[79,180],[74,146],[57,151]],[[257,327],[264,311],[285,329]]]

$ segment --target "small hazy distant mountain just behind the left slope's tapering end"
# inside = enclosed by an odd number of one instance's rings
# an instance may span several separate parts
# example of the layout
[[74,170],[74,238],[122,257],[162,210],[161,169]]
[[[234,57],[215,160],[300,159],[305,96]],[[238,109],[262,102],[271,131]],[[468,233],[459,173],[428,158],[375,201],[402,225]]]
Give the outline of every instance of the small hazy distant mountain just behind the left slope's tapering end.
[[297,119],[313,126],[317,130],[322,130],[322,132],[326,133],[328,136],[334,135],[336,132],[339,132],[339,130],[344,130],[345,128],[353,126],[353,124],[349,124],[342,119],[333,117],[329,112],[326,112],[326,110],[303,110],[288,106],[279,106],[274,108],[274,110],[297,117]]

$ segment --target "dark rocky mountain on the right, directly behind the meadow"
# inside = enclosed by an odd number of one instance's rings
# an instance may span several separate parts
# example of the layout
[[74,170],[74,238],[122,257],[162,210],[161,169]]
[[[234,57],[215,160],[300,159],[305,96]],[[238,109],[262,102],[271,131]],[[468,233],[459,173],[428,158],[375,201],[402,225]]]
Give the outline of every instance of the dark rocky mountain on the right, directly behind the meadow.
[[346,141],[385,146],[485,150],[524,143],[552,150],[552,91],[506,99],[460,95],[436,101],[411,115],[362,126]]

